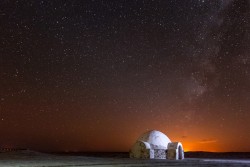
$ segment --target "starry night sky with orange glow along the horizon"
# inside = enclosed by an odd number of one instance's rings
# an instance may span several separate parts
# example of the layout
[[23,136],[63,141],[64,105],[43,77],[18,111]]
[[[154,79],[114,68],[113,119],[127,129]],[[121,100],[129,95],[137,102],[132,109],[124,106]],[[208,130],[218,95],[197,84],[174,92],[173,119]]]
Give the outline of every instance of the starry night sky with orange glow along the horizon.
[[0,147],[250,151],[250,0],[1,0]]

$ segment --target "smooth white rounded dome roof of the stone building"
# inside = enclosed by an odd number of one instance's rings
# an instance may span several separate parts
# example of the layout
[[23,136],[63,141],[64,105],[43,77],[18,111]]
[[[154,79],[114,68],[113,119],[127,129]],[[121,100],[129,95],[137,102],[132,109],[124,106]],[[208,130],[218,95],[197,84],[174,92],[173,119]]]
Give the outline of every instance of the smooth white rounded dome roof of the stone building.
[[170,139],[162,132],[157,130],[148,131],[142,134],[139,138],[139,141],[148,142],[152,145],[163,146],[165,148],[168,147],[168,143],[170,143]]

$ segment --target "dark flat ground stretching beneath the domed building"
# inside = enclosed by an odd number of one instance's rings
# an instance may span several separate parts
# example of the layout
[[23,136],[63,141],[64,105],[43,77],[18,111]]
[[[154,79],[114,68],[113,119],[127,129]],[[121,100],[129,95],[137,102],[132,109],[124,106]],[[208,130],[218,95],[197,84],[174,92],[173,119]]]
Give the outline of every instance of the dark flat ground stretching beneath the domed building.
[[[216,154],[215,158],[211,156]],[[138,160],[129,159],[127,153],[75,153],[44,154],[33,151],[0,152],[2,167],[81,167],[81,166],[249,166],[249,153],[189,152],[184,160]],[[208,158],[198,156],[208,155]],[[218,157],[219,155],[219,157]],[[238,156],[239,158],[235,157]],[[196,156],[196,157],[195,157]],[[224,158],[223,158],[224,156]],[[226,157],[225,157],[226,156]],[[230,156],[232,158],[230,158]],[[222,157],[222,158],[220,158]],[[245,159],[242,159],[246,157]]]

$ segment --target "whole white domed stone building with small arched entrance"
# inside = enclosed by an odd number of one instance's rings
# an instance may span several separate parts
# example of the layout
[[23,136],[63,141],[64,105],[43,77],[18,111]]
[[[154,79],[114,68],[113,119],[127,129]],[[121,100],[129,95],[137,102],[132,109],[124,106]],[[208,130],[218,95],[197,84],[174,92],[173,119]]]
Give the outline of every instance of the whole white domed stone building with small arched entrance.
[[142,159],[184,159],[184,151],[180,142],[171,142],[164,133],[152,130],[137,139],[129,156]]

